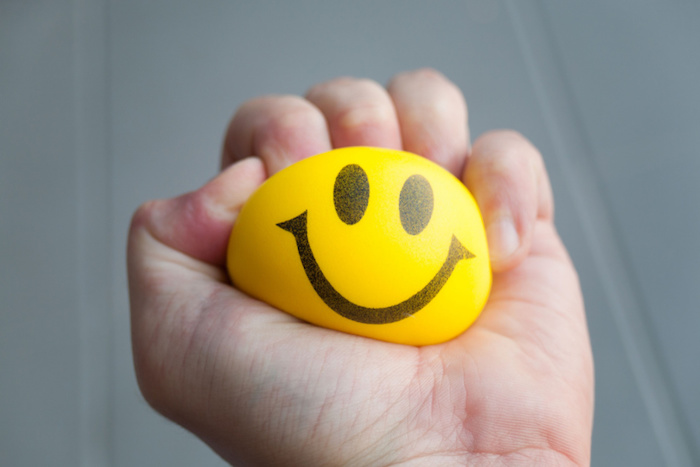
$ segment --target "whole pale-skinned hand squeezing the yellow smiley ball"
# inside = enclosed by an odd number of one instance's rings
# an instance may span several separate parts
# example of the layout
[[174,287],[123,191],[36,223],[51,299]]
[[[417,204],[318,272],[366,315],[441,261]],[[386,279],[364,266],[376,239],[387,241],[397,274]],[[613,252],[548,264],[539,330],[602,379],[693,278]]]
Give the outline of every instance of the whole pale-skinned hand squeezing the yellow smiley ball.
[[[250,194],[297,160],[357,145],[436,161],[482,210],[493,288],[449,342],[323,329],[228,279],[228,237]],[[512,131],[472,145],[462,93],[436,71],[243,104],[222,172],[134,214],[128,272],[144,397],[235,465],[590,464],[591,348],[542,157]]]

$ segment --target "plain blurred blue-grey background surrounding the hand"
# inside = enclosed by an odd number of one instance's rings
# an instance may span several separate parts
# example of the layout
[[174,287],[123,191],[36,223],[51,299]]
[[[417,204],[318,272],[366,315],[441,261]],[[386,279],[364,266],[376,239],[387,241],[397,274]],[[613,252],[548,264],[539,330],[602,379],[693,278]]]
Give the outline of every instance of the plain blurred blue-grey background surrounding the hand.
[[432,66],[542,150],[596,362],[593,465],[700,465],[700,4],[0,0],[0,465],[221,465],[135,384],[125,237],[244,100]]

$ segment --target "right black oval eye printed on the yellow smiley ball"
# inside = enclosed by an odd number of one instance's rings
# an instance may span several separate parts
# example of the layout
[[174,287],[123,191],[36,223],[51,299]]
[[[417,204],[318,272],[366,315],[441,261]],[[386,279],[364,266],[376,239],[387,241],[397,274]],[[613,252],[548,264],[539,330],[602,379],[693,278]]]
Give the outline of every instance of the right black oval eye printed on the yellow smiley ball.
[[406,233],[418,235],[433,215],[433,189],[422,175],[411,175],[399,195],[401,225]]

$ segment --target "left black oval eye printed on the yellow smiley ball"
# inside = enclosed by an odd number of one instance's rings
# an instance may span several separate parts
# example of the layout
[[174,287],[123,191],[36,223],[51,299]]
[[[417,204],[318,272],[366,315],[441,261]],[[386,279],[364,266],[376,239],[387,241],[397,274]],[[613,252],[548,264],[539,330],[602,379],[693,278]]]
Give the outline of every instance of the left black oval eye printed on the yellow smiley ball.
[[348,225],[362,219],[369,204],[367,174],[357,164],[346,165],[335,178],[333,202],[340,220]]

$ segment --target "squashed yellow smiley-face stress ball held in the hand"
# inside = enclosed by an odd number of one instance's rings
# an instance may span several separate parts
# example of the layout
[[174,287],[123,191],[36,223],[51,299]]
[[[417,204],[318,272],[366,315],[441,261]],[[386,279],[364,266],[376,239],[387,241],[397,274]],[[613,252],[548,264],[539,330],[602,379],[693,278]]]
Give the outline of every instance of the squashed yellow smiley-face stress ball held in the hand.
[[352,147],[304,159],[250,197],[228,268],[247,294],[310,323],[428,345],[467,329],[491,288],[464,185],[420,156]]

